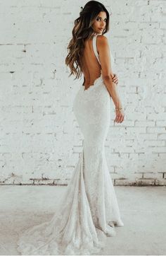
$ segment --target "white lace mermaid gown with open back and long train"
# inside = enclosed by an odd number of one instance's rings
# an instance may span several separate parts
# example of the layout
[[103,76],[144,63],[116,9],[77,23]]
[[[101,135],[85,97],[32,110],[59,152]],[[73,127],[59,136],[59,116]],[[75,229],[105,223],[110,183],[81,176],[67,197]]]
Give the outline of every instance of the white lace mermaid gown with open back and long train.
[[80,86],[73,112],[84,136],[82,152],[52,219],[20,235],[22,255],[93,255],[104,248],[107,236],[116,235],[115,226],[124,226],[106,163],[110,94],[102,76],[87,90]]

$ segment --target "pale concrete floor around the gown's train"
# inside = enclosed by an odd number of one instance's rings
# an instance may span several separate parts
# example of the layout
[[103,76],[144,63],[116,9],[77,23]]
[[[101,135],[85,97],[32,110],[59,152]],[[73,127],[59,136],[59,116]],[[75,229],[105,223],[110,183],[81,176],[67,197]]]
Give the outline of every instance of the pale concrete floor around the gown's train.
[[[18,255],[15,241],[51,219],[66,187],[0,186],[0,255]],[[166,255],[166,187],[115,186],[123,227],[108,237],[103,255]]]

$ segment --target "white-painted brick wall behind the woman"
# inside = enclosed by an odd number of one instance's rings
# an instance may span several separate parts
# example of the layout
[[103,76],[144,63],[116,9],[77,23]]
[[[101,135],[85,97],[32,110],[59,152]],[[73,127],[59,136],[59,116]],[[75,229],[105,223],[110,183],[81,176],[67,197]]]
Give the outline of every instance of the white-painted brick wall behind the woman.
[[[66,47],[84,1],[0,1],[0,183],[66,184],[82,151]],[[166,184],[166,1],[102,1],[125,121],[111,123],[115,185]],[[112,107],[113,102],[111,102]]]

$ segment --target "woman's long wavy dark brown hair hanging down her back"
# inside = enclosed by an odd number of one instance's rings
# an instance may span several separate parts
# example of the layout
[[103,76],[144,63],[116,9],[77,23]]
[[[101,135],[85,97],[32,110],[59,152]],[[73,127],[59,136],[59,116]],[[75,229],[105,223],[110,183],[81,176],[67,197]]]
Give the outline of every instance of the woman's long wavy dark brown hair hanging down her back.
[[[84,40],[90,38],[94,34],[93,25],[98,13],[101,11],[106,12],[106,28],[102,34],[109,30],[109,13],[106,7],[98,1],[89,1],[85,4],[82,11],[79,13],[79,18],[75,20],[75,26],[72,29],[72,39],[68,44],[68,56],[65,58],[65,64],[70,67],[70,75],[76,75],[75,79],[82,76],[82,52],[84,50]],[[74,79],[74,80],[75,80]]]

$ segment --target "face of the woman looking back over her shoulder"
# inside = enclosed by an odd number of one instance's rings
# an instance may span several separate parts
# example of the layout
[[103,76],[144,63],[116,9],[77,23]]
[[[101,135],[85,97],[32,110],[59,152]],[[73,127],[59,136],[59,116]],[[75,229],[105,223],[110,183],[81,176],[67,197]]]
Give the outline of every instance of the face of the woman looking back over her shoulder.
[[103,33],[104,28],[106,28],[106,19],[107,15],[105,11],[101,11],[100,13],[98,13],[96,20],[94,21],[94,24],[91,26],[95,33]]

